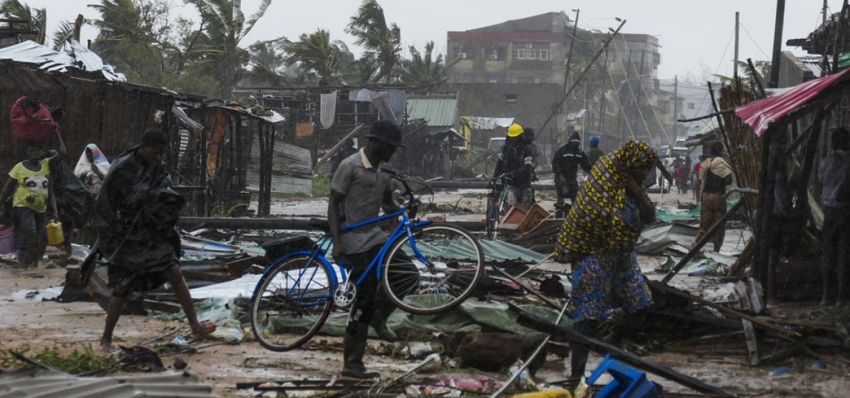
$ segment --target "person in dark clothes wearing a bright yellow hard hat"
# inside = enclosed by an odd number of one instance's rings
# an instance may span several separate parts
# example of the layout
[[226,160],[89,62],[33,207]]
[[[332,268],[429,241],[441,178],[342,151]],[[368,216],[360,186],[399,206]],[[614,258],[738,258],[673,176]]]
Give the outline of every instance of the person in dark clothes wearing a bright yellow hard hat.
[[496,176],[505,174],[507,180],[507,201],[526,209],[535,203],[531,180],[534,176],[534,153],[525,139],[524,128],[517,123],[507,128],[505,145],[499,151],[496,162]]

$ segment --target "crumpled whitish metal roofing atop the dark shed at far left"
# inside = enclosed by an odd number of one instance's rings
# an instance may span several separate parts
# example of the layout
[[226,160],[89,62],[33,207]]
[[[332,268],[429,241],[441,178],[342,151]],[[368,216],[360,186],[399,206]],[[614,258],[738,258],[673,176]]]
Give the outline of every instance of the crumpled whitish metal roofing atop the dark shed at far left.
[[73,56],[27,40],[14,46],[0,48],[0,60],[14,60],[36,64],[43,71],[65,72],[69,69],[99,71],[106,80],[115,82],[127,81],[127,77],[124,77],[122,73],[116,73],[111,65],[104,65],[103,60],[100,60],[98,54],[94,54],[82,44],[72,40],[71,48],[74,49]]

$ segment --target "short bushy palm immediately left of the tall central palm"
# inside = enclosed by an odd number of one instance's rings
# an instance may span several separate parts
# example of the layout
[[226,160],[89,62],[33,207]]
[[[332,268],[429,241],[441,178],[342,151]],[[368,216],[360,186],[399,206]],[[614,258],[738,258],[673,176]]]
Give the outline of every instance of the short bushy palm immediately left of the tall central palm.
[[[298,71],[307,77],[314,76],[320,86],[339,82],[337,67],[343,50],[338,42],[331,42],[330,32],[317,29],[313,33],[303,33],[297,42],[285,39],[281,48],[286,51],[287,66],[297,65]],[[347,51],[348,47],[345,49]]]

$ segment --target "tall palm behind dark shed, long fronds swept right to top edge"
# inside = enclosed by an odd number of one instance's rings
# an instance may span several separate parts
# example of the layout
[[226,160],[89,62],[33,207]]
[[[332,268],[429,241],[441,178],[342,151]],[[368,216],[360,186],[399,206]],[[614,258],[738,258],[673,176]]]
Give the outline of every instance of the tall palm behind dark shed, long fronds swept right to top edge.
[[271,0],[263,0],[258,11],[246,21],[239,8],[240,0],[184,0],[195,5],[207,22],[195,53],[218,81],[216,94],[220,98],[232,95],[233,88],[245,72],[250,54],[239,44],[269,8]]

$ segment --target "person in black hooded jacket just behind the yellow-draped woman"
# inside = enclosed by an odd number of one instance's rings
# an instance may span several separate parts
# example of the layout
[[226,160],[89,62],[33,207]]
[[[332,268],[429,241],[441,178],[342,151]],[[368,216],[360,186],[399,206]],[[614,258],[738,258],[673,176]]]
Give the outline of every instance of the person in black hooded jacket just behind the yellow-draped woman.
[[570,198],[570,205],[575,203],[575,195],[579,191],[578,168],[590,173],[591,163],[587,154],[581,151],[581,137],[574,132],[570,140],[561,145],[552,159],[552,171],[555,173],[555,189],[558,191],[558,202],[555,202],[555,217],[564,218],[566,207],[564,199]]

